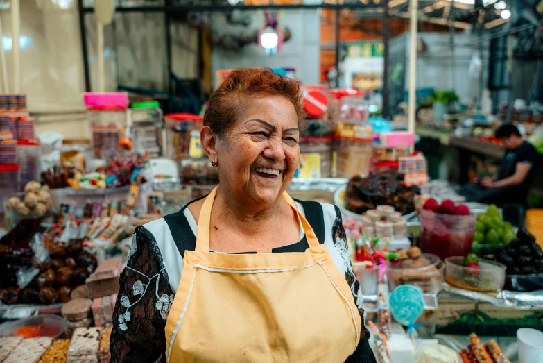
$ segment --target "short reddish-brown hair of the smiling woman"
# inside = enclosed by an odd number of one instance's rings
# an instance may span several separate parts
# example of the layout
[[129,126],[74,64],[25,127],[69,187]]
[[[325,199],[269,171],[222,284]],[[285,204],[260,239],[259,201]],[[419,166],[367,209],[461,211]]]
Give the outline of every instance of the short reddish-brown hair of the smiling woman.
[[305,129],[306,113],[302,105],[300,85],[291,78],[274,74],[268,68],[234,69],[209,97],[204,115],[204,125],[223,137],[230,127],[239,121],[252,99],[266,96],[282,96],[292,103],[298,116],[300,132]]

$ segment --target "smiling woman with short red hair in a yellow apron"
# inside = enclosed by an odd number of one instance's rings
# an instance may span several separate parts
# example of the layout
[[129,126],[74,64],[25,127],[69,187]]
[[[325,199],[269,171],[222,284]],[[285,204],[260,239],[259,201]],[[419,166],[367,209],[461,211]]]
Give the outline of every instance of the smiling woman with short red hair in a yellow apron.
[[285,192],[304,128],[298,83],[233,71],[204,125],[221,183],[137,228],[112,362],[375,362],[338,208]]

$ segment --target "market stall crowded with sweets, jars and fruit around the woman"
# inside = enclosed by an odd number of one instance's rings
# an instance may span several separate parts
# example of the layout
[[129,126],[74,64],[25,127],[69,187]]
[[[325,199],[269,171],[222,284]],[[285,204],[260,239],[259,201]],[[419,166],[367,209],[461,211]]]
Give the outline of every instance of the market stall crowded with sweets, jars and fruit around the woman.
[[[364,92],[311,86],[302,93],[309,128],[288,193],[341,210],[375,353],[383,362],[434,362],[439,355],[475,362],[476,352],[488,349],[494,360],[514,360],[517,345],[502,336],[543,330],[537,222],[528,226],[533,233],[517,230],[495,206],[464,203],[448,183],[429,181],[415,133],[372,119]],[[201,115],[162,116],[156,103],[130,104],[125,93],[84,99],[90,140],[64,139],[42,155],[33,135],[25,141],[28,120],[20,117],[6,124],[15,133],[22,123],[18,141],[0,143],[12,163],[0,165],[7,227],[0,339],[14,361],[26,357],[20,346],[37,347],[29,362],[57,355],[107,361],[119,273],[135,227],[218,184],[200,144]],[[446,141],[501,153],[488,142]],[[15,154],[11,146],[19,148]],[[44,160],[49,164],[37,167]]]

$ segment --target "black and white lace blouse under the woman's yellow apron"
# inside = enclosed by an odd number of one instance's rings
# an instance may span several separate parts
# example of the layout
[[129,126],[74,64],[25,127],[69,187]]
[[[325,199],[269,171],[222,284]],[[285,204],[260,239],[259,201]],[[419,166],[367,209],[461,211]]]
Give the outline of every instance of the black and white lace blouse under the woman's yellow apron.
[[[325,203],[297,204],[319,242],[327,246],[336,267],[345,273],[364,321],[362,294],[352,271],[340,211]],[[120,277],[110,343],[111,362],[166,362],[166,319],[180,280],[184,251],[193,251],[196,246],[196,228],[187,206],[136,228],[128,264]],[[302,252],[307,248],[303,235],[300,242],[274,248],[272,252]],[[369,336],[363,328],[359,346],[347,362],[376,362],[368,344]]]

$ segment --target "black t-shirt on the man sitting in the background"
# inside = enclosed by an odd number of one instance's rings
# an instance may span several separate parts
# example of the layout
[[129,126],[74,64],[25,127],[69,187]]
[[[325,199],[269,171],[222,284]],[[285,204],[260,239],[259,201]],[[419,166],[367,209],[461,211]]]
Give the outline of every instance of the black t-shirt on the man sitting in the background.
[[526,193],[528,193],[528,189],[535,179],[537,167],[540,165],[541,155],[537,153],[535,147],[533,147],[533,145],[527,141],[520,144],[517,149],[509,150],[503,159],[501,159],[501,167],[498,171],[497,180],[505,179],[515,174],[515,171],[517,171],[517,163],[519,162],[523,162],[524,164],[531,166],[531,169],[528,171],[528,175],[524,181],[517,185],[517,188],[520,190],[525,190]]

